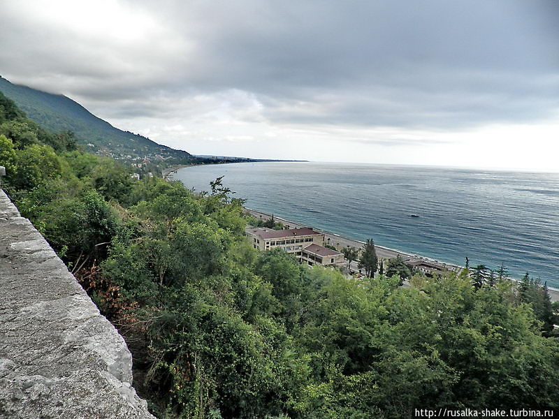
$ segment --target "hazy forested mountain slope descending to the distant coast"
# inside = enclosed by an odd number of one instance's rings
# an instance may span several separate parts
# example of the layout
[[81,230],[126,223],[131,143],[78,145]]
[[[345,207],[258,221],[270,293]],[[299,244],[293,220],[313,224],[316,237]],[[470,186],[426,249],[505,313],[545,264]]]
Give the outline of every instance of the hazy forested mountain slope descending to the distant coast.
[[194,159],[182,150],[159,145],[142,135],[115,128],[64,95],[13,84],[1,76],[0,91],[24,110],[29,119],[41,126],[51,131],[73,131],[78,144],[90,152],[116,159]]

